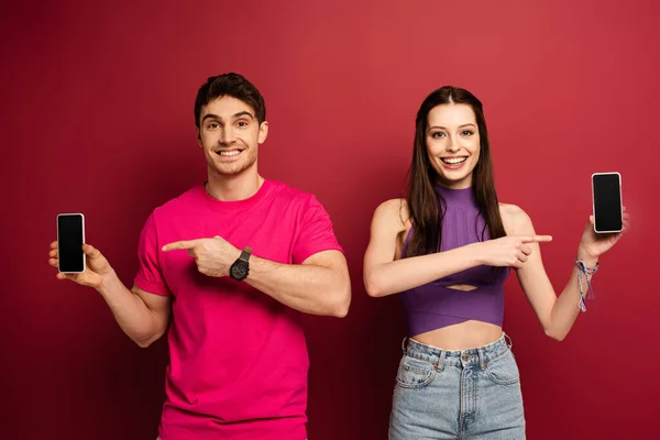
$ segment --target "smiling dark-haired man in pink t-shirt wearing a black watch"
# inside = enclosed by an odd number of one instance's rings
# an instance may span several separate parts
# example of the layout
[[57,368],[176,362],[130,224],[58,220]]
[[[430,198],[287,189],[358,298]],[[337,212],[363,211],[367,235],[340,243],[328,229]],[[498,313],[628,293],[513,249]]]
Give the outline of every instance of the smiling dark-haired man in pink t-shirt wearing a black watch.
[[209,78],[195,101],[208,179],[150,216],[133,287],[89,244],[84,273],[57,274],[95,287],[140,346],[170,324],[162,440],[305,439],[299,312],[349,309],[346,261],[323,207],[257,173],[265,119],[245,78]]

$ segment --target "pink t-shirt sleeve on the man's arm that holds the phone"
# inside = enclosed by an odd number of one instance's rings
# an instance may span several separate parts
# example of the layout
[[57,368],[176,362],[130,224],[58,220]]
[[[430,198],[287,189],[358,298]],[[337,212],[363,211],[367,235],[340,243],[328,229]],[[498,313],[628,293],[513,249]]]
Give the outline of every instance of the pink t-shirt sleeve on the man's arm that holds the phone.
[[144,292],[167,296],[169,295],[169,290],[165,283],[165,278],[163,277],[158,253],[156,224],[154,215],[152,213],[146,220],[140,234],[140,242],[138,244],[140,267],[138,268],[138,275],[135,275],[134,283]]

